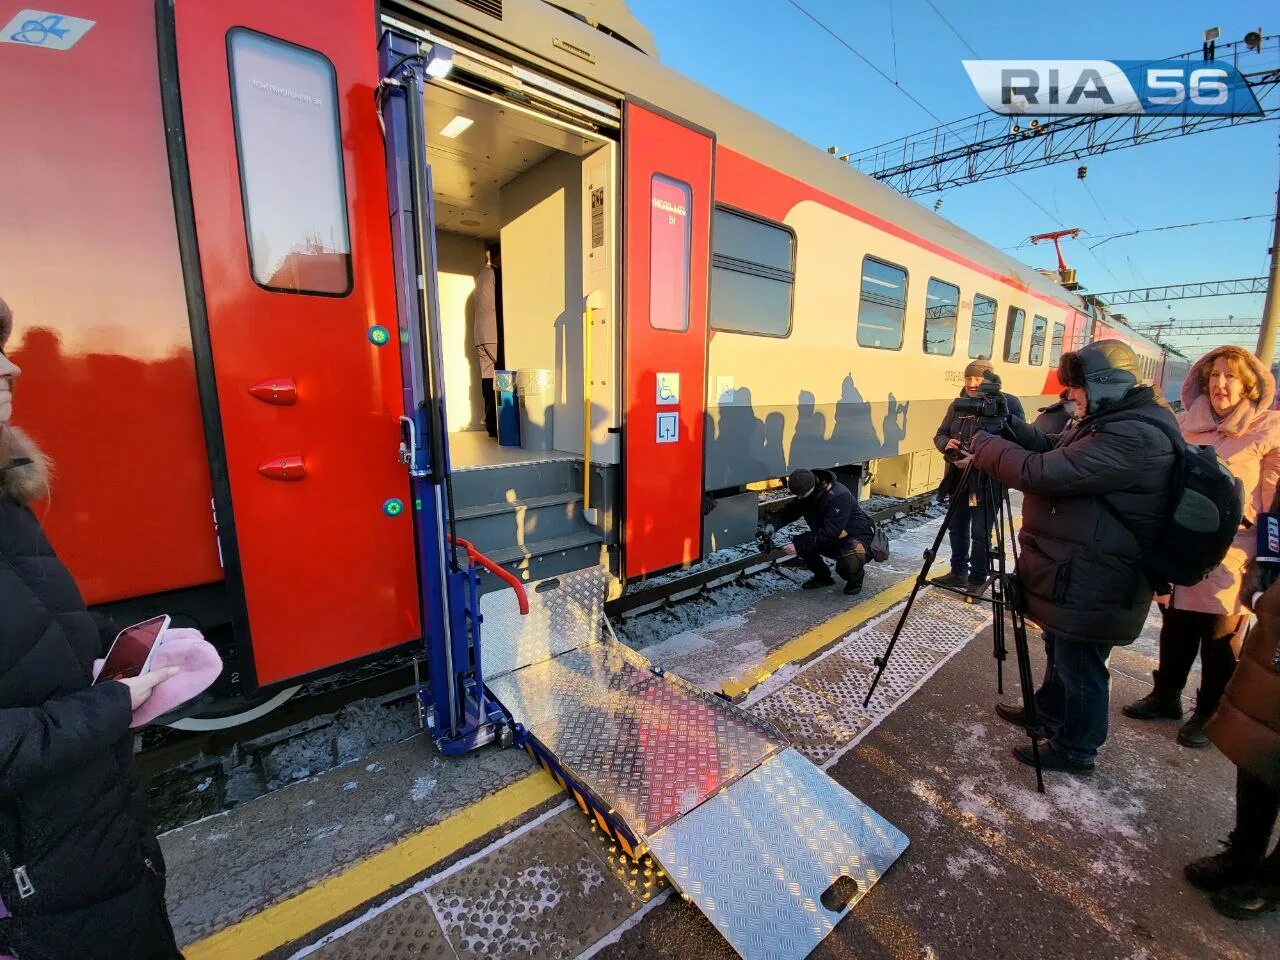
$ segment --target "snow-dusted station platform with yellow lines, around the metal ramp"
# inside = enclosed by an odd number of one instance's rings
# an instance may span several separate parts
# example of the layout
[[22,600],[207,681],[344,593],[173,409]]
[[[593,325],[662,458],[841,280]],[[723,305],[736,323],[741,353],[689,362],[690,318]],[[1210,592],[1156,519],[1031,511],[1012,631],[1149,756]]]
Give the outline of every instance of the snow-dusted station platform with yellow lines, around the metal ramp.
[[[861,708],[933,532],[896,540],[856,603],[780,593],[644,649],[705,692],[735,691],[910,837],[813,956],[1266,956],[1280,922],[1233,923],[1180,878],[1230,828],[1230,764],[1119,713],[1147,689],[1156,621],[1114,657],[1098,772],[1048,773],[1044,795],[1010,755],[1021,732],[991,712],[986,607],[922,594]],[[447,760],[413,737],[163,845],[193,960],[736,955],[660,864],[632,861],[516,750]]]

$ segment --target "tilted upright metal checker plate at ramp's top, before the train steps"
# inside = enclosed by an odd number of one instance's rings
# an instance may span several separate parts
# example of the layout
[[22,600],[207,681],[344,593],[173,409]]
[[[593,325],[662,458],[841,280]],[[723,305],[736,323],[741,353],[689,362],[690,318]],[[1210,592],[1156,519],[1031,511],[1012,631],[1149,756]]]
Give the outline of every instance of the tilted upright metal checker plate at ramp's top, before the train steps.
[[527,585],[529,616],[520,616],[516,594],[495,590],[480,598],[486,678],[595,643],[609,572],[588,567]]

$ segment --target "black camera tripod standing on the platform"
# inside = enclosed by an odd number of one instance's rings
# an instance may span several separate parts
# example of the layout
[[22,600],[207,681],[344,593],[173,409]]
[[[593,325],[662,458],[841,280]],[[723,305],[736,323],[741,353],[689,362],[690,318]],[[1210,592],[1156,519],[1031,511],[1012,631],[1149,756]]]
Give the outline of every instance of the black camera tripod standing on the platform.
[[[973,461],[965,465],[960,474],[951,500],[947,504],[946,516],[942,518],[942,525],[938,527],[938,535],[933,538],[933,544],[924,552],[924,564],[920,567],[920,572],[915,577],[915,584],[911,586],[911,594],[906,598],[906,605],[902,608],[902,616],[899,617],[897,626],[893,628],[893,635],[890,637],[888,645],[884,648],[884,653],[876,658],[876,677],[872,680],[872,686],[867,691],[867,696],[863,699],[863,707],[870,703],[872,695],[876,692],[876,687],[884,673],[884,668],[888,666],[890,657],[893,655],[893,648],[897,646],[897,639],[902,634],[902,627],[906,626],[908,617],[911,616],[911,607],[915,604],[915,598],[920,593],[920,588],[925,584],[932,582],[929,580],[929,568],[933,566],[934,558],[938,556],[938,548],[942,545],[942,538],[947,535],[951,529],[951,521],[955,517],[956,506],[960,497],[969,497],[969,480],[973,476]],[[987,511],[988,517],[995,517],[995,524],[991,529],[995,534],[995,545],[989,549],[991,566],[993,572],[991,573],[991,596],[989,603],[992,605],[992,657],[996,658],[996,690],[1000,694],[1005,692],[1005,660],[1009,657],[1009,648],[1006,645],[1006,628],[1012,626],[1014,634],[1014,653],[1018,659],[1018,682],[1021,689],[1023,695],[1023,710],[1027,717],[1027,732],[1032,739],[1032,755],[1036,758],[1036,788],[1039,792],[1044,792],[1044,773],[1041,769],[1041,755],[1039,744],[1042,740],[1048,740],[1044,727],[1039,721],[1039,713],[1036,709],[1036,684],[1032,677],[1032,663],[1030,652],[1027,646],[1027,617],[1021,609],[1021,594],[1018,588],[1018,579],[1014,573],[1012,567],[1006,563],[1005,554],[1005,538],[1009,538],[1010,549],[1012,553],[1014,566],[1018,563],[1018,541],[1014,536],[1014,511],[1012,504],[1009,500],[1009,490],[1005,489],[1002,484],[993,479],[988,479],[983,485],[986,488],[986,503],[983,508]],[[991,534],[988,534],[991,536]],[[979,600],[987,602],[988,598],[983,594],[973,594],[965,590],[959,590],[955,588],[945,586],[942,584],[933,584],[938,589],[948,590],[950,593],[959,594],[966,598],[972,603]],[[1009,621],[1006,623],[1006,613]]]

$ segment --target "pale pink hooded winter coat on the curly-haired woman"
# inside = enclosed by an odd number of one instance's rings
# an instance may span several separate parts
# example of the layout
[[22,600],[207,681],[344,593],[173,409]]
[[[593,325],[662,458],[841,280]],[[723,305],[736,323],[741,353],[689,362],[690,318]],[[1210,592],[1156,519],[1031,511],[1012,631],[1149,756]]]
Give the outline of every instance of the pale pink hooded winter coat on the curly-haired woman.
[[[1178,424],[1188,442],[1213,447],[1231,474],[1239,477],[1244,485],[1244,518],[1252,525],[1258,513],[1266,512],[1280,479],[1280,413],[1267,410],[1267,401],[1275,393],[1275,378],[1257,357],[1249,355],[1248,358],[1265,398],[1261,403],[1243,399],[1219,421],[1204,393],[1201,379],[1204,358],[1201,357],[1183,381],[1183,412],[1178,415]],[[1244,613],[1240,581],[1245,564],[1256,553],[1256,531],[1252,526],[1242,527],[1222,563],[1207,577],[1194,586],[1174,588],[1172,605],[1202,613]]]

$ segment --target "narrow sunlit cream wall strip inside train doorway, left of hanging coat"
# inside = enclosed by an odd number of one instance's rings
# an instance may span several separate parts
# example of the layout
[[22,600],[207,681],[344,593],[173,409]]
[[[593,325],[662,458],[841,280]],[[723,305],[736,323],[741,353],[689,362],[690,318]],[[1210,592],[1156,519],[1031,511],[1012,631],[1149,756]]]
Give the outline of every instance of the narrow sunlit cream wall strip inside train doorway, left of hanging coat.
[[484,266],[484,241],[458,233],[438,233],[435,256],[449,433],[484,430],[480,365],[471,343],[475,275]]

